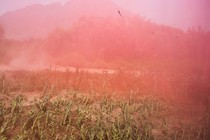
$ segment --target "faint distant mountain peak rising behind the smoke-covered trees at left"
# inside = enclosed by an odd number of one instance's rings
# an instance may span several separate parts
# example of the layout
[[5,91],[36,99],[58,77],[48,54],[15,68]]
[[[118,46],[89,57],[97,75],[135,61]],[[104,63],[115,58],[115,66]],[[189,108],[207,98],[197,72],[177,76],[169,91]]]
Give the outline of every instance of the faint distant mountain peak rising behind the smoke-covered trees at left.
[[69,28],[82,16],[117,17],[119,9],[122,10],[109,0],[69,0],[65,5],[37,4],[0,16],[0,25],[7,38],[42,38],[56,28]]

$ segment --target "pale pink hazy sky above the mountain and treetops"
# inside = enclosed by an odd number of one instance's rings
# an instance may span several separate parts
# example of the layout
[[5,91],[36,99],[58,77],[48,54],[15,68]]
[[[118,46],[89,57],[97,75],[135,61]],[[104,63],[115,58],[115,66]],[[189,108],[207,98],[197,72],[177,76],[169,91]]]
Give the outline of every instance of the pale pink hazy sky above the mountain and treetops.
[[[68,0],[0,0],[0,15],[31,4],[65,3]],[[112,0],[124,9],[132,11],[158,24],[182,29],[200,25],[210,30],[209,0]]]

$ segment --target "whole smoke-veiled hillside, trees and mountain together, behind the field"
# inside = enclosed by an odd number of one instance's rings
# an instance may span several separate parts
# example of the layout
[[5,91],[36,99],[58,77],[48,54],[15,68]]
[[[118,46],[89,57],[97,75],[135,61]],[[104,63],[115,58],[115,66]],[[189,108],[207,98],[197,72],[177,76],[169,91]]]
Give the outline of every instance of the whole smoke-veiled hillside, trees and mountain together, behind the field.
[[210,68],[210,32],[158,25],[107,0],[33,5],[7,13],[0,17],[3,19],[8,22],[7,28],[2,26],[5,37],[25,41],[1,39],[1,64],[167,67],[203,73]]

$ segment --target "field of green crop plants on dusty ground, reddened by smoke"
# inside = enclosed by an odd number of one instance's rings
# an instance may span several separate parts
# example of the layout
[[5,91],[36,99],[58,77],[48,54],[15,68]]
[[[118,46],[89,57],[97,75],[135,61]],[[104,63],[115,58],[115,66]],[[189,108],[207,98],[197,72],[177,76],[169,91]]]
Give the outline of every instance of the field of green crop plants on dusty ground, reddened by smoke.
[[0,139],[208,140],[209,97],[195,94],[208,86],[194,81],[146,70],[4,71]]

